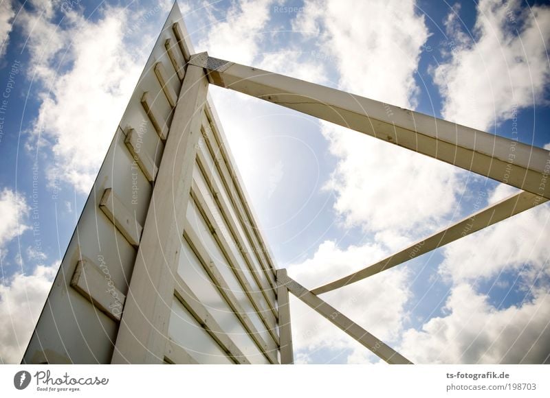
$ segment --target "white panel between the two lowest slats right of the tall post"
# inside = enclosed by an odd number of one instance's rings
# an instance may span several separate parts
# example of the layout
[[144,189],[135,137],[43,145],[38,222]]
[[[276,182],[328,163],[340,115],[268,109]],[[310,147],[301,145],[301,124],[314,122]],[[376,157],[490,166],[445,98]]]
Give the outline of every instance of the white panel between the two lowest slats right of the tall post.
[[175,297],[172,301],[172,314],[170,315],[168,334],[174,342],[183,347],[199,364],[234,363]]

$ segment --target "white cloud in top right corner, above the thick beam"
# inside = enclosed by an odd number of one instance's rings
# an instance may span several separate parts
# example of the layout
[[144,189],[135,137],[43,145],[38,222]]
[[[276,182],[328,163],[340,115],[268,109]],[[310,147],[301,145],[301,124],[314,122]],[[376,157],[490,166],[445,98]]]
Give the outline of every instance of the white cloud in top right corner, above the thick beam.
[[447,24],[450,59],[434,69],[445,119],[487,130],[540,100],[550,82],[550,8],[482,0],[474,37],[455,22]]

